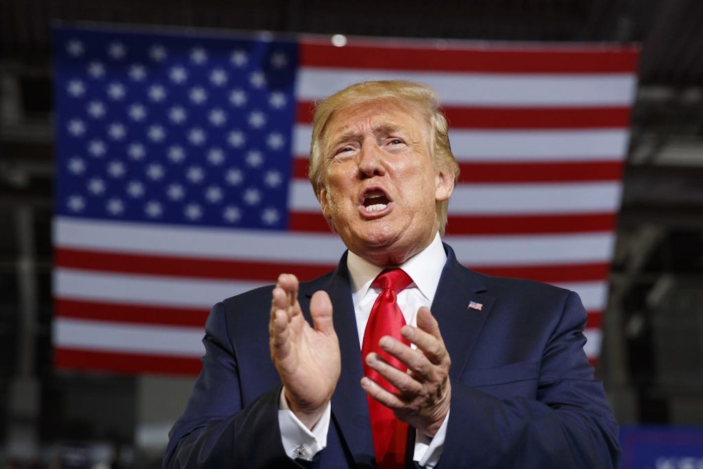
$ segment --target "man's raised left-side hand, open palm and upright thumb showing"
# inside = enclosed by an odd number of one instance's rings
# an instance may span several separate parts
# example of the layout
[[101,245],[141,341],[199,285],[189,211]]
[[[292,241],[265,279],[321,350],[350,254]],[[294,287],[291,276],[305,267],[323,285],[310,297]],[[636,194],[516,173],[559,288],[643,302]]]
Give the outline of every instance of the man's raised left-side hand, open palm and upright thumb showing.
[[271,296],[271,360],[283,382],[290,410],[312,428],[335,392],[342,367],[332,302],[323,291],[312,296],[311,328],[300,310],[295,275],[280,274]]

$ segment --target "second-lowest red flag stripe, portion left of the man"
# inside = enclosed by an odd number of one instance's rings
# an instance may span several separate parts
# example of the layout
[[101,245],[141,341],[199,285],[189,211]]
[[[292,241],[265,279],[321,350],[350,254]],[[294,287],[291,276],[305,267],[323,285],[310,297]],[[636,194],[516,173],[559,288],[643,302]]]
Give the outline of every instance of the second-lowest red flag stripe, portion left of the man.
[[54,300],[54,314],[64,318],[92,319],[169,326],[205,326],[207,310],[156,307],[79,300]]

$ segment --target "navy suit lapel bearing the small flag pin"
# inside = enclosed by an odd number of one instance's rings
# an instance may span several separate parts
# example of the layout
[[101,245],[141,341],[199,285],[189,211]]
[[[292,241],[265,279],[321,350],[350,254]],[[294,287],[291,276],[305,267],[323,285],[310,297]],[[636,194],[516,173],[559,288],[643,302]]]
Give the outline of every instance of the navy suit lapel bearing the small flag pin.
[[[482,278],[459,264],[448,245],[444,250],[447,260],[434,294],[432,314],[451,357],[449,376],[458,379],[496,298],[485,293]],[[470,308],[470,302],[480,310]]]

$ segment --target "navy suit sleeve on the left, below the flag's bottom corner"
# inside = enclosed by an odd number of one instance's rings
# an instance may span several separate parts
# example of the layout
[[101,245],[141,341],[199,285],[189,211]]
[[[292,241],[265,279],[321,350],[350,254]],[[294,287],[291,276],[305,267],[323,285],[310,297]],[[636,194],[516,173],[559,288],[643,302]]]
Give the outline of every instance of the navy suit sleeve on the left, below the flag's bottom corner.
[[278,427],[280,386],[242,406],[224,304],[205,324],[205,356],[185,413],[169,432],[163,468],[304,467],[288,458]]

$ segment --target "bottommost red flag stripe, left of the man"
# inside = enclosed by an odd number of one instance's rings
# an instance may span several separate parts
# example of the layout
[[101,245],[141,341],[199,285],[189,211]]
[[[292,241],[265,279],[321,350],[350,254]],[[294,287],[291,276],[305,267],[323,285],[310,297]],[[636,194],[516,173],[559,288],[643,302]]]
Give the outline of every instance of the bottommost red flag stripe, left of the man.
[[94,350],[56,348],[53,350],[56,368],[117,373],[159,373],[167,375],[197,375],[200,359],[183,356],[124,354]]

